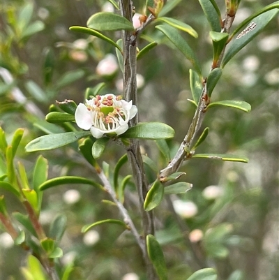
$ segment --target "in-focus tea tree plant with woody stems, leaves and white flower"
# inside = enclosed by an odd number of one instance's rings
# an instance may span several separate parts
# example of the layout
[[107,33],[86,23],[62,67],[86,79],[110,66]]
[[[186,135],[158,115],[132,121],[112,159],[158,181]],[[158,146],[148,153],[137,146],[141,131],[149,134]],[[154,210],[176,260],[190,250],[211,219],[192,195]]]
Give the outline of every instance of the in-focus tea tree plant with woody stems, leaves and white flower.
[[[31,252],[27,266],[22,268],[25,279],[66,280],[70,279],[70,274],[74,270],[73,263],[63,268],[59,263],[59,258],[63,255],[59,242],[66,229],[65,216],[57,216],[52,221],[48,233],[40,223],[41,205],[46,190],[62,184],[87,184],[103,191],[104,195],[107,194],[110,200],[105,202],[107,205],[117,207],[119,219],[103,219],[86,224],[82,228],[82,233],[102,224],[123,228],[123,231],[133,235],[133,240],[141,251],[145,271],[143,279],[165,280],[169,277],[169,265],[157,238],[156,219],[160,219],[160,216],[154,209],[166,203],[181,232],[185,235],[189,231],[188,225],[176,214],[172,202],[173,195],[186,192],[188,194],[192,187],[195,188],[185,181],[187,175],[181,171],[182,165],[195,158],[248,162],[246,157],[236,154],[215,154],[210,151],[198,154],[196,149],[210,133],[209,127],[203,131],[200,131],[200,128],[206,113],[210,114],[211,108],[216,106],[223,106],[225,110],[238,109],[250,112],[251,106],[246,101],[211,102],[211,96],[216,84],[222,79],[223,69],[225,66],[229,67],[229,61],[276,17],[279,1],[255,10],[255,13],[233,29],[232,24],[241,1],[225,1],[223,14],[220,10],[224,7],[219,7],[216,1],[199,0],[211,29],[209,38],[213,47],[211,66],[206,71],[201,66],[197,53],[182,35],[187,33],[199,40],[202,34],[197,34],[197,31],[186,22],[168,17],[168,13],[179,5],[179,0],[166,3],[163,0],[147,0],[145,4],[141,3],[144,6],[143,11],[137,6],[134,7],[132,1],[110,0],[110,3],[114,6],[114,13],[95,13],[89,17],[87,27],[73,26],[70,27],[70,31],[94,36],[96,40],[103,40],[115,48],[119,68],[123,74],[122,96],[107,92],[104,94],[105,83],[100,83],[86,89],[84,103],[77,105],[70,99],[56,101],[55,105],[50,106],[50,112],[45,117],[47,122],[40,122],[40,128],[47,135],[31,140],[25,147],[26,152],[43,152],[72,145],[79,159],[82,157],[89,170],[93,171],[92,177],[61,176],[48,179],[47,159],[40,155],[34,165],[33,179],[30,183],[24,165],[14,163],[23,129],[20,128],[15,132],[10,144],[1,129],[1,164],[4,166],[1,188],[13,193],[27,214],[17,212],[10,216],[5,198],[1,196],[0,217],[3,227],[13,237],[15,244]],[[135,15],[135,12],[140,15]],[[185,14],[187,13],[185,10]],[[119,36],[118,40],[114,40],[112,35],[114,33],[116,37]],[[139,40],[146,40],[146,45],[142,49],[138,47]],[[140,122],[137,61],[144,60],[148,52],[160,48],[163,43],[178,50],[181,57],[190,61],[189,80],[192,98],[188,101],[189,105],[195,106],[195,113],[189,128],[185,131],[185,136],[181,139],[180,146],[175,151],[171,147],[171,139],[174,138],[172,127],[160,122]],[[142,140],[156,143],[160,156],[167,163],[165,166],[141,152]],[[114,166],[102,163],[101,160],[110,147],[115,147],[122,153]],[[130,165],[132,174],[123,177],[121,171],[126,163]],[[126,194],[130,192],[131,186],[135,186],[137,190],[137,213],[126,205]],[[140,223],[135,221],[139,217]],[[15,226],[14,219],[24,229]],[[212,258],[227,256],[227,244],[233,240],[231,233],[232,228],[228,224],[217,224],[211,231],[206,232],[203,249],[191,242],[187,234],[183,236],[190,252],[190,263],[193,263],[193,270],[197,271],[190,277],[180,275],[179,279],[217,279],[219,272],[216,266],[211,265],[202,251],[206,251]],[[241,272],[236,270],[230,275],[229,280],[241,277]]]

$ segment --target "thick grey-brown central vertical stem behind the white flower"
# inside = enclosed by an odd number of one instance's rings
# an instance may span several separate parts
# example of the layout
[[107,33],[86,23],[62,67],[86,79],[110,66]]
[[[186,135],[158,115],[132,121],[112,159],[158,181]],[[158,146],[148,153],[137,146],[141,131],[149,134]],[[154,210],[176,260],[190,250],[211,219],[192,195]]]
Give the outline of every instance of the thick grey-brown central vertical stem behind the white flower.
[[[119,7],[121,15],[126,17],[132,22],[133,17],[133,3],[130,0],[120,0]],[[151,17],[148,23],[151,22]],[[148,24],[147,23],[147,24]],[[146,25],[147,25],[146,24]],[[146,26],[145,25],[145,26]],[[142,29],[141,29],[142,31]],[[140,31],[123,31],[123,63],[124,63],[124,74],[123,74],[123,88],[124,98],[126,101],[133,101],[134,105],[137,105],[137,34]],[[130,120],[129,125],[135,126],[138,121],[138,115]],[[130,145],[127,149],[128,160],[133,170],[133,177],[135,179],[135,185],[137,186],[137,194],[140,200],[140,209],[142,215],[142,224],[144,230],[144,251],[142,252],[143,258],[146,265],[146,273],[149,280],[158,279],[153,265],[149,260],[147,249],[146,249],[146,236],[151,234],[154,235],[154,218],[153,212],[144,211],[144,199],[146,193],[149,191],[149,186],[146,182],[146,177],[143,168],[142,155],[140,154],[140,143],[138,140],[131,139]]]

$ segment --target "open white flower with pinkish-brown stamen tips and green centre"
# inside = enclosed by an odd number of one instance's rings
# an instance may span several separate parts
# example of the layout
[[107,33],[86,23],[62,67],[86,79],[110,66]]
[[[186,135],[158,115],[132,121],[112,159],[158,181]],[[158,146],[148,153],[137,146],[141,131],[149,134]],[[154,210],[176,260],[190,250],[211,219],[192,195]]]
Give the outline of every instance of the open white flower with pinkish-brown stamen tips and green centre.
[[101,138],[105,133],[123,134],[128,121],[137,114],[137,106],[114,94],[97,95],[80,103],[75,111],[77,126],[89,130],[93,137]]

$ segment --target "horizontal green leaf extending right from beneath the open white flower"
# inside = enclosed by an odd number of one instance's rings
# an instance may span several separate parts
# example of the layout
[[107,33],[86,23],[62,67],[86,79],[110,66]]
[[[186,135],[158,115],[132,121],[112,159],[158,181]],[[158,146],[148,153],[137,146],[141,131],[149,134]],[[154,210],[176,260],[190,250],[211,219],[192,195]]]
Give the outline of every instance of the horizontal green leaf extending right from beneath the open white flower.
[[168,139],[174,137],[174,129],[161,122],[141,122],[130,127],[119,138]]

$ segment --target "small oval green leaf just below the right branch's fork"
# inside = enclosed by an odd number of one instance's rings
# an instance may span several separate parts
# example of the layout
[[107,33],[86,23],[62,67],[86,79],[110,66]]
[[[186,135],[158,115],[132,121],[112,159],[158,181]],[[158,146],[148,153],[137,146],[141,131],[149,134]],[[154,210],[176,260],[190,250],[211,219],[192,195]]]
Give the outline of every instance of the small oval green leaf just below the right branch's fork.
[[144,210],[151,211],[157,207],[163,200],[163,196],[164,186],[159,180],[156,180],[151,186],[151,189],[149,189],[148,193],[146,194],[144,200]]

